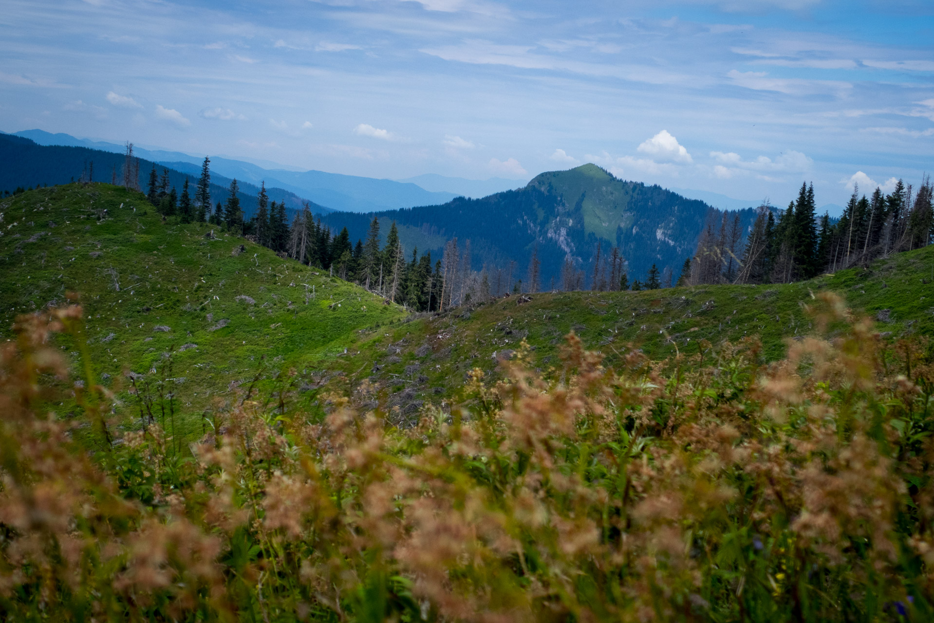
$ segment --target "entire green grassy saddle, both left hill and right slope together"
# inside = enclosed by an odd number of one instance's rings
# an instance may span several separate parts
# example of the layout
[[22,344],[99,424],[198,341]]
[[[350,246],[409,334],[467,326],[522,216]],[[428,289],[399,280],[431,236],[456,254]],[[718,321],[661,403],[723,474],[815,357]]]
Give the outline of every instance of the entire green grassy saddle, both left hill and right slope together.
[[[165,375],[177,379],[170,385],[191,433],[200,433],[200,414],[215,397],[229,402],[259,375],[268,399],[290,367],[292,388],[327,385],[411,423],[421,405],[454,396],[474,367],[498,374],[498,360],[523,339],[546,371],[572,331],[610,365],[633,348],[658,359],[753,335],[764,359],[776,360],[786,338],[810,332],[801,305],[820,290],[878,316],[886,337],[934,334],[934,248],[798,284],[538,293],[413,318],[240,238],[163,222],[142,195],[120,188],[29,191],[0,203],[0,213],[0,334],[10,337],[17,314],[80,292],[94,373],[123,390],[118,415],[138,412],[126,370],[151,382]],[[78,361],[76,345],[62,339]],[[171,371],[163,367],[170,352]],[[364,379],[373,389],[365,394]]]

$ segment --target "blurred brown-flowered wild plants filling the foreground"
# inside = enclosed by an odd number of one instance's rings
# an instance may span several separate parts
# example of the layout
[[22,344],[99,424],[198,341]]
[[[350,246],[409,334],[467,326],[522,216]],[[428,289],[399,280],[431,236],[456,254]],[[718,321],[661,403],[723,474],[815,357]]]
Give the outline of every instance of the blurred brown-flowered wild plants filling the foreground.
[[610,370],[572,335],[554,375],[521,350],[410,431],[243,395],[190,453],[155,423],[113,445],[89,381],[92,458],[41,409],[79,312],[21,317],[2,350],[7,620],[934,614],[925,345],[884,350],[832,295],[814,323],[837,337],[768,367],[750,339]]

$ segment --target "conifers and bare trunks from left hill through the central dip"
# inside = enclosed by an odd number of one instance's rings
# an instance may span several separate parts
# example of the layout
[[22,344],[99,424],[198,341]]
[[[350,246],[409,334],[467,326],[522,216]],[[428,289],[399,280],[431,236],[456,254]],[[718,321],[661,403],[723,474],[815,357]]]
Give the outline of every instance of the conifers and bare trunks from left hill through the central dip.
[[[153,164],[147,198],[164,217],[176,216],[182,223],[207,222],[243,235],[281,257],[329,270],[415,311],[443,311],[492,297],[545,288],[586,289],[585,272],[577,270],[570,258],[565,261],[558,283],[554,277],[549,284],[541,283],[542,262],[537,246],[532,250],[531,261],[523,275],[513,260],[504,266],[484,264],[479,271],[474,270],[469,239],[462,243],[456,237],[449,240],[442,257],[433,264],[430,251],[419,257],[414,248],[411,256],[406,257],[395,220],[391,221],[385,245],[381,245],[377,216],[370,222],[366,239],[358,239],[353,244],[346,226],[339,232],[333,231],[321,222],[319,215],[316,218],[311,213],[308,204],[296,211],[289,223],[285,204],[271,202],[265,184],[259,191],[255,214],[246,219],[237,197],[237,180],[231,181],[224,203],[212,204],[210,175],[210,159],[205,157],[192,196],[187,178],[178,193],[174,187],[169,187],[168,170],[163,168],[160,174]],[[670,270],[659,271],[656,264],[652,264],[644,281],[636,279],[630,283],[627,262],[620,248],[603,252],[602,243],[599,243],[589,282],[593,290],[654,290],[671,287],[672,274]]]

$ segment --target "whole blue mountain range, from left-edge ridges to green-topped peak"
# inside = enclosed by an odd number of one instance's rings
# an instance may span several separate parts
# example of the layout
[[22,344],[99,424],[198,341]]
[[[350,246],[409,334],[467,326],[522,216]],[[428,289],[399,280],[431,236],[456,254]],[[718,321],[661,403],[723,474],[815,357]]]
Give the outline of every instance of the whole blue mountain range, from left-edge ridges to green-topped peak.
[[[94,162],[98,180],[107,181],[112,171],[120,171],[123,155],[122,148],[117,153],[119,146],[95,149],[101,144],[39,132],[0,135],[0,190],[78,179],[82,168],[90,162]],[[43,147],[23,135],[44,142],[85,142],[94,147]],[[179,190],[185,178],[193,183],[200,175],[200,162],[181,152],[139,149],[138,154],[143,157],[141,181],[154,164],[169,169],[170,183]],[[181,156],[187,160],[180,160]],[[173,160],[165,160],[168,158]],[[439,259],[446,243],[457,237],[461,249],[467,240],[471,241],[471,264],[475,270],[484,265],[502,269],[512,266],[510,270],[516,278],[525,278],[535,254],[541,262],[543,288],[559,282],[562,265],[568,258],[576,270],[589,276],[598,248],[602,253],[618,248],[627,262],[630,280],[643,279],[653,264],[660,272],[667,270],[676,278],[685,259],[693,254],[705,221],[717,213],[703,201],[688,199],[658,185],[618,179],[595,164],[546,172],[521,188],[480,198],[425,191],[411,181],[320,171],[270,171],[253,163],[224,158],[212,159],[211,171],[212,202],[226,200],[231,178],[236,177],[240,181],[241,205],[248,218],[255,211],[258,184],[265,181],[270,198],[284,202],[292,214],[309,198],[334,199],[336,204],[330,205],[312,202],[312,212],[333,233],[347,227],[351,240],[365,239],[375,217],[381,224],[381,238],[385,242],[390,223],[395,221],[407,256],[417,248],[420,252],[431,251],[432,258]],[[282,178],[290,183],[283,183]],[[417,179],[427,185],[451,180],[441,176]],[[505,182],[508,180],[488,180],[490,187]],[[307,192],[315,189],[317,193]],[[424,199],[424,205],[413,203],[418,199]],[[334,205],[348,204],[355,209],[333,209]],[[405,207],[372,209],[375,205]],[[754,210],[746,207],[737,214],[743,231],[747,231]]]

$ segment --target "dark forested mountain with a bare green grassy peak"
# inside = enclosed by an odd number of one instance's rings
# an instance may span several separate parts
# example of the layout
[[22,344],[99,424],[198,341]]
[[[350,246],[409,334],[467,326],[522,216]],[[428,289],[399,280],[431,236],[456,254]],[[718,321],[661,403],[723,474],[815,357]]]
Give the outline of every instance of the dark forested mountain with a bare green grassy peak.
[[[534,177],[524,188],[481,199],[458,197],[444,205],[377,212],[382,232],[395,221],[406,253],[431,250],[432,258],[447,240],[461,248],[471,241],[475,270],[484,264],[505,267],[515,261],[525,278],[531,256],[541,262],[541,285],[559,283],[561,266],[571,258],[587,276],[598,246],[617,247],[628,262],[630,281],[644,279],[654,263],[674,278],[693,255],[704,224],[715,208],[659,186],[618,179],[595,164]],[[737,212],[743,231],[755,210]],[[347,227],[351,238],[365,238],[374,215],[334,212],[322,215],[332,231]]]

